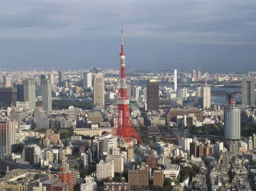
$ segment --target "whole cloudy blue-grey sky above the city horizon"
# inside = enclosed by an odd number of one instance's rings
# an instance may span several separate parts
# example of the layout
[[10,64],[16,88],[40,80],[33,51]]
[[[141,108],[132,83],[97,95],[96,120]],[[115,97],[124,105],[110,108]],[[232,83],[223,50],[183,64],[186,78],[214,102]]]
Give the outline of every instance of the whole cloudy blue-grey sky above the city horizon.
[[256,71],[255,0],[2,0],[0,68]]

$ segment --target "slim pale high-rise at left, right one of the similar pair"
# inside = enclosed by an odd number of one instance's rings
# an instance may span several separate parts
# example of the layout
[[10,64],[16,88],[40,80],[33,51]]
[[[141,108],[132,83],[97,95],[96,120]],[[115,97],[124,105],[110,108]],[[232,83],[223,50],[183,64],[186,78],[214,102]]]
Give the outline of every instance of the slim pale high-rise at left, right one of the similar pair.
[[42,105],[44,111],[52,110],[52,92],[50,80],[46,79],[46,75],[41,75],[42,86]]

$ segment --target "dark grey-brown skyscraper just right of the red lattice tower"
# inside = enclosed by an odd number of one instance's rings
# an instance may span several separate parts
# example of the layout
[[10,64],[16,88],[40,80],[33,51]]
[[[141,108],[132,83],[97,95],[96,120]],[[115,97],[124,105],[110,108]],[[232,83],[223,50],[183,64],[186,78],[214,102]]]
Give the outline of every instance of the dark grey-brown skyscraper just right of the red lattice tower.
[[159,82],[149,80],[146,87],[147,109],[159,110]]

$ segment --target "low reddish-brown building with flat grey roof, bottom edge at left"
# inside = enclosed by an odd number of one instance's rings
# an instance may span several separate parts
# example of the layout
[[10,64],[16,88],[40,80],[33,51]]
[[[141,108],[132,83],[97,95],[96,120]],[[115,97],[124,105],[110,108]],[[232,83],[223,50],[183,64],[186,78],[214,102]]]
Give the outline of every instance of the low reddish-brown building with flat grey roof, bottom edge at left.
[[51,178],[43,182],[43,186],[46,186],[48,191],[69,191],[68,183],[62,182],[60,178]]

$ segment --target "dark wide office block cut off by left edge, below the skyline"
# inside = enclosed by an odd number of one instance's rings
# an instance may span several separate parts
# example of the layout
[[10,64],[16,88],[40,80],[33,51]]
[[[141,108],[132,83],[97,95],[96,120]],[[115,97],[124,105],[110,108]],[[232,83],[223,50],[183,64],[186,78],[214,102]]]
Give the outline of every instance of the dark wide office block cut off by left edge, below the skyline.
[[16,106],[17,89],[14,87],[0,87],[1,107]]

